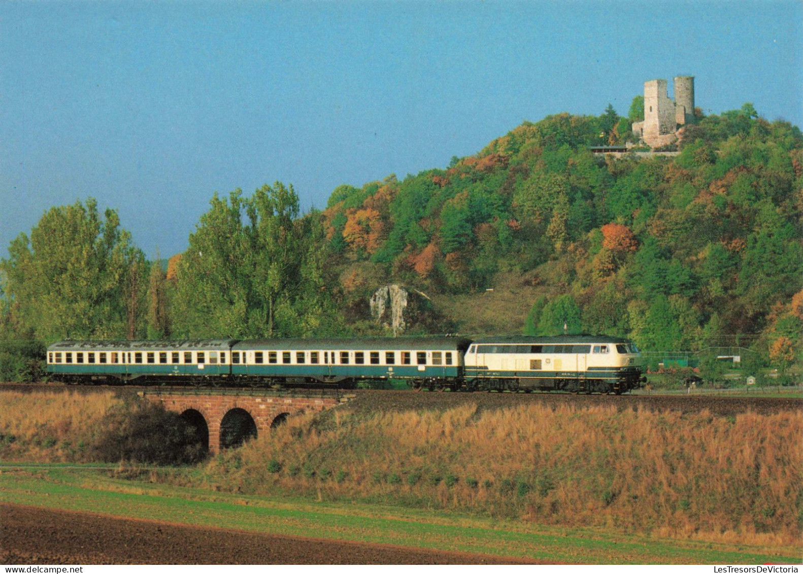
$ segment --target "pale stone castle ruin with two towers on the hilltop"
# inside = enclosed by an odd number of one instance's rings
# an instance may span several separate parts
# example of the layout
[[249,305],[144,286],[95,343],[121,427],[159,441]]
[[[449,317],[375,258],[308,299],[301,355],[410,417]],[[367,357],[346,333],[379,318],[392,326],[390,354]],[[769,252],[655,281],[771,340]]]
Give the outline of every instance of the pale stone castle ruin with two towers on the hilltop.
[[666,79],[644,83],[644,121],[633,124],[633,133],[646,145],[659,148],[678,140],[678,132],[690,123],[695,112],[695,77],[675,77],[675,100],[666,92]]

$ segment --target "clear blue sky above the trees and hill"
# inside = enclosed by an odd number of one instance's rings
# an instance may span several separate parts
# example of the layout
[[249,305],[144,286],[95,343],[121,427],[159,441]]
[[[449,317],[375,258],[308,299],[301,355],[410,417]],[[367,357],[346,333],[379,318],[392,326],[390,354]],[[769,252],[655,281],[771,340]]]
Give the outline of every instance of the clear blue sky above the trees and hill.
[[0,257],[96,197],[149,257],[212,194],[304,209],[446,167],[524,120],[626,115],[648,79],[803,124],[803,2],[2,2]]

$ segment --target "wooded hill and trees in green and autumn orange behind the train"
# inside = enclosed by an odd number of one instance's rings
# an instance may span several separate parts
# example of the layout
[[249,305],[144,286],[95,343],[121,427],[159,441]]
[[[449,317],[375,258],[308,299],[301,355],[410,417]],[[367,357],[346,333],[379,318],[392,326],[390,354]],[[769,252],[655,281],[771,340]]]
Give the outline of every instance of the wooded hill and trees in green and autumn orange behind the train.
[[113,210],[54,208],[0,263],[2,337],[381,334],[368,298],[401,283],[434,301],[413,333],[566,325],[646,350],[740,344],[789,368],[803,326],[800,129],[745,104],[698,114],[675,157],[589,150],[628,128],[610,107],[525,122],[445,169],[340,185],[303,216],[281,183],[216,195],[166,276]]

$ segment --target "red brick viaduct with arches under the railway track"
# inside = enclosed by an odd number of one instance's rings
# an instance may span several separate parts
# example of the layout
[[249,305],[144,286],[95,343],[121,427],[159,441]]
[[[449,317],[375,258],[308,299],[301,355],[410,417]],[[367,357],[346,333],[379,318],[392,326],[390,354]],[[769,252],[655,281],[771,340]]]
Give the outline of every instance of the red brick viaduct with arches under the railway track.
[[239,446],[248,438],[267,433],[287,417],[300,413],[317,413],[340,405],[348,398],[336,394],[298,396],[242,391],[145,391],[141,396],[161,402],[165,409],[181,414],[199,429],[199,438],[210,454]]

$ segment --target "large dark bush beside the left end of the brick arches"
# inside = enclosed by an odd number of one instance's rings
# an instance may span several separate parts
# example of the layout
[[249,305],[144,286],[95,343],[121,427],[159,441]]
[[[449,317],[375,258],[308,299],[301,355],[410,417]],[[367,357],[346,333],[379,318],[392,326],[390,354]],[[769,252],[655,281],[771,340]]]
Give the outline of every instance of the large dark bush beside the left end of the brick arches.
[[98,422],[92,459],[157,465],[194,464],[206,456],[196,430],[181,415],[149,401],[129,401]]

